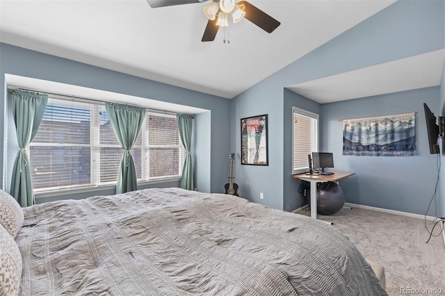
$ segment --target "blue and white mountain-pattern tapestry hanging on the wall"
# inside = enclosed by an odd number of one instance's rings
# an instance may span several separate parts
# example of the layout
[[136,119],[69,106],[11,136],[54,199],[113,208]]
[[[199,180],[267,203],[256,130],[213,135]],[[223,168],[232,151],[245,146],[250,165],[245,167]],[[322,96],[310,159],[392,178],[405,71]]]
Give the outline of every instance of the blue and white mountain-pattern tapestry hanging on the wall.
[[416,155],[415,113],[343,120],[343,155]]

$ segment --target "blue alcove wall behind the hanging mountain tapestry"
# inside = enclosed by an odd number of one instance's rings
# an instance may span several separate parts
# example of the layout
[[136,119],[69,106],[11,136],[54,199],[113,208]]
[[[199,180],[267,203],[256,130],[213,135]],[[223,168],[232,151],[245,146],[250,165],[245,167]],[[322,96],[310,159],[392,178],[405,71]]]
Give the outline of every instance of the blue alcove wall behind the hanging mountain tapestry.
[[[439,115],[438,86],[321,105],[320,150],[334,154],[336,170],[356,173],[341,181],[346,202],[426,213],[437,180],[437,155],[428,146],[424,102]],[[339,120],[410,112],[416,113],[416,156],[343,156]]]

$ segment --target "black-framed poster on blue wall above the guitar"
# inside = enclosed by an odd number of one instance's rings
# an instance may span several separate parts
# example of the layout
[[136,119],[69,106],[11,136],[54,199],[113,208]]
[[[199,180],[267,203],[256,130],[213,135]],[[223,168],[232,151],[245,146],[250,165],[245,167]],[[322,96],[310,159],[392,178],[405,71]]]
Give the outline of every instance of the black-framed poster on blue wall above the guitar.
[[241,165],[268,165],[267,114],[241,119]]

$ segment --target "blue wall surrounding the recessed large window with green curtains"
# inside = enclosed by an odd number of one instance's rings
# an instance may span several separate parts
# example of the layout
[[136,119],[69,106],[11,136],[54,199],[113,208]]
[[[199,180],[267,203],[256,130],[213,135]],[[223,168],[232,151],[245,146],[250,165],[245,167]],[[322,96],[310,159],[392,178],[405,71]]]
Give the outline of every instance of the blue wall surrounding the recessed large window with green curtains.
[[[197,134],[195,135],[195,139],[197,143],[200,143],[198,146],[200,149],[209,149],[204,152],[204,157],[208,158],[207,165],[209,168],[202,170],[202,167],[200,167],[201,170],[199,170],[199,172],[206,174],[206,176],[202,178],[202,182],[207,183],[205,183],[205,186],[203,185],[202,188],[208,189],[211,192],[224,192],[223,185],[225,176],[229,170],[229,163],[226,161],[227,155],[229,154],[228,99],[184,88],[177,88],[172,85],[78,63],[73,60],[58,58],[4,43],[0,43],[0,66],[1,81],[5,81],[5,74],[14,74],[210,110],[211,116],[203,116],[198,120],[198,124],[207,127],[202,129],[201,126],[197,126],[196,129]],[[10,123],[8,129],[14,131],[13,124],[11,124],[12,122],[7,112],[8,100],[5,99],[5,83],[1,83],[0,94],[0,114],[2,115],[2,119],[0,120],[0,159],[2,159],[2,167],[8,164],[8,171],[10,171],[10,167],[15,158],[15,151],[17,151],[17,140],[15,140],[15,132],[8,134],[4,132],[8,120]],[[6,145],[4,145],[5,143]],[[2,173],[1,179],[7,180],[6,182],[1,182],[1,188],[6,188],[6,185],[10,183],[10,179],[6,177],[8,176],[4,176]],[[199,175],[197,175],[197,179],[200,179]],[[172,184],[176,183],[174,182]],[[154,187],[159,186],[161,185],[154,185]],[[103,192],[103,194],[108,193],[107,190]],[[94,194],[102,195],[102,192],[94,192]],[[85,197],[85,195],[82,195],[82,197]]]

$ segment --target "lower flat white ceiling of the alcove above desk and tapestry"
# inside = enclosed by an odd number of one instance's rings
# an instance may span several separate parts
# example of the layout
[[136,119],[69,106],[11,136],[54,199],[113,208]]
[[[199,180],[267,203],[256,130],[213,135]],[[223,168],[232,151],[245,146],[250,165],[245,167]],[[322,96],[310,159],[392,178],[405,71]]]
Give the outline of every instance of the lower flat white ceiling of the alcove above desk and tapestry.
[[320,104],[440,85],[445,49],[289,86]]

